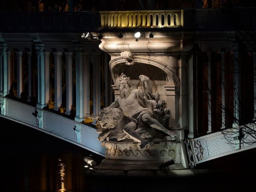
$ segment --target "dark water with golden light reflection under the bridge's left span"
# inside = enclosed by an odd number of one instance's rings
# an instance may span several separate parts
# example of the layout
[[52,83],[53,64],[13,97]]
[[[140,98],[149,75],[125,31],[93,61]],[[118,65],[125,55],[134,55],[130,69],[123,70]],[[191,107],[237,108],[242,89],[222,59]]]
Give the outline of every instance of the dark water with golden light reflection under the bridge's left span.
[[89,192],[84,157],[103,157],[30,127],[0,118],[1,192]]

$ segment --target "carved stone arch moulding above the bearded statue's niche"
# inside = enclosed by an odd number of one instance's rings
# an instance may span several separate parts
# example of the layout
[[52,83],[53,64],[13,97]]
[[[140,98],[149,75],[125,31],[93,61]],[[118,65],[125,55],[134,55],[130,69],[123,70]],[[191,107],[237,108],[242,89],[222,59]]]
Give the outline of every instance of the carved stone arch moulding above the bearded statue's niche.
[[134,57],[134,63],[135,63],[134,66],[126,66],[125,62],[126,60],[124,58],[115,58],[109,62],[109,67],[111,70],[113,81],[115,81],[115,79],[121,74],[121,71],[123,71],[124,67],[136,68],[136,65],[143,64],[143,65],[147,65],[151,67],[153,66],[153,67],[156,67],[157,69],[160,69],[161,72],[164,73],[166,76],[166,84],[180,85],[180,79],[176,75],[175,71],[172,70],[172,68],[169,67],[167,64],[157,61],[156,59]]

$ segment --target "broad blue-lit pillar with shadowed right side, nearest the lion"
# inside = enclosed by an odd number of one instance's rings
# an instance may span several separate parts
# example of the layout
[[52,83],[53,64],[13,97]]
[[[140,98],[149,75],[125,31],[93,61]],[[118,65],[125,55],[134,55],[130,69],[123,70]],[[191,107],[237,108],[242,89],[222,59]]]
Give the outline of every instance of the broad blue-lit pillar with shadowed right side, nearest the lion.
[[76,45],[76,117],[82,122],[85,114],[90,113],[90,57],[82,52],[82,46]]

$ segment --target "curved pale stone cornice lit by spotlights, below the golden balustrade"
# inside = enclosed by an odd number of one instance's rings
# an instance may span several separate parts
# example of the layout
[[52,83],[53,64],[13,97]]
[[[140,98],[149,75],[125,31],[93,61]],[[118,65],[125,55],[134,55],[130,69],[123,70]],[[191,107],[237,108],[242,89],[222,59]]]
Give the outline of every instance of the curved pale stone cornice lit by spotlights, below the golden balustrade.
[[182,32],[157,32],[154,38],[149,33],[142,33],[142,37],[135,41],[134,32],[127,32],[123,38],[116,33],[104,33],[99,48],[105,52],[184,52],[192,49],[190,37],[184,37]]

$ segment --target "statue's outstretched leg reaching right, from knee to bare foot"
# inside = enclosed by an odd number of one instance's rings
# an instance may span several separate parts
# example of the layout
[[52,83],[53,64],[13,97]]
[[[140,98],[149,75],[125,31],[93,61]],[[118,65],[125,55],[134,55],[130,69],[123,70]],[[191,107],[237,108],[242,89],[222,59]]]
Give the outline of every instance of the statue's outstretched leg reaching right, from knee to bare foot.
[[148,113],[143,114],[142,120],[144,123],[150,125],[152,128],[163,131],[165,134],[168,134],[171,137],[176,136],[175,132],[166,129],[160,122],[157,121],[157,119],[152,118],[151,115]]

